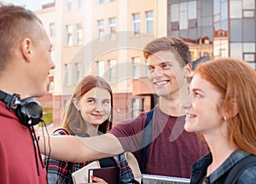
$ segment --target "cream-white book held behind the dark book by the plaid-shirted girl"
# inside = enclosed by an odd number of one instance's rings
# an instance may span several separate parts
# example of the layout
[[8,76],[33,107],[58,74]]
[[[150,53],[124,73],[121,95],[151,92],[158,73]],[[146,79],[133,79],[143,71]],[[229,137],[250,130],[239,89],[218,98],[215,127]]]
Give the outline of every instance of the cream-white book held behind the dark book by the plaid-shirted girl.
[[80,170],[76,170],[72,174],[72,179],[74,184],[86,183],[88,182],[88,173],[90,169],[99,169],[101,165],[99,161],[94,161],[90,164],[85,165]]

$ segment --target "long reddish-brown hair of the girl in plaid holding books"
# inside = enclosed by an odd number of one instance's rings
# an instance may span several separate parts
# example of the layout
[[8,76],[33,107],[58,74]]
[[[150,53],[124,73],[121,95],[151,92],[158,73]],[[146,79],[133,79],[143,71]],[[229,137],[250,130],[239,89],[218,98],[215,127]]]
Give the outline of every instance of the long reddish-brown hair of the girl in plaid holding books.
[[110,117],[103,123],[99,125],[98,130],[102,133],[107,133],[109,129],[112,128],[112,117],[113,117],[113,93],[109,84],[99,76],[89,75],[83,78],[83,80],[78,84],[72,95],[69,105],[67,107],[67,112],[64,116],[62,123],[62,128],[67,129],[71,135],[84,135],[86,134],[86,124],[84,123],[84,118],[81,116],[81,112],[74,106],[73,98],[77,101],[83,97],[90,89],[93,88],[107,89],[111,96],[111,114]]

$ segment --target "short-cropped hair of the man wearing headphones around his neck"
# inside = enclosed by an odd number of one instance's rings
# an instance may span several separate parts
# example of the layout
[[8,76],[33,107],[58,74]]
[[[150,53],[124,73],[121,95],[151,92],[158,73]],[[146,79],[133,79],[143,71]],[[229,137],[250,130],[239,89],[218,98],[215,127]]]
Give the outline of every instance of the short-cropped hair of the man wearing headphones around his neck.
[[31,10],[0,3],[0,72],[24,38],[30,37],[33,41],[40,37],[37,31],[41,30],[35,29],[38,24],[42,22]]

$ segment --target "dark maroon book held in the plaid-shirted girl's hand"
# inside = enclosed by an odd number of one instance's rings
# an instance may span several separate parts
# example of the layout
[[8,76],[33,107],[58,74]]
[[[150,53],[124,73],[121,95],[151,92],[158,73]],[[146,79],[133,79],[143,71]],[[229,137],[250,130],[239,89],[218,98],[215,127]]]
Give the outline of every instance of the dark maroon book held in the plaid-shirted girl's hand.
[[91,175],[102,178],[104,181],[108,182],[109,184],[118,184],[117,182],[117,168],[116,167],[106,167],[101,169],[90,169],[89,170],[89,180],[88,182],[93,182],[91,180]]

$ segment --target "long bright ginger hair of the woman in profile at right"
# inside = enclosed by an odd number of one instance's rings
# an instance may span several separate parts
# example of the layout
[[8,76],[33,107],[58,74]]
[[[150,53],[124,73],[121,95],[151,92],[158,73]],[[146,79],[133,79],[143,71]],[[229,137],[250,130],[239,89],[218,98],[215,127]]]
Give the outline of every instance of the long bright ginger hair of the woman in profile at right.
[[232,145],[256,154],[256,72],[246,61],[218,59],[201,63],[195,73],[212,83],[224,96],[224,110],[237,113],[227,119],[228,139]]

